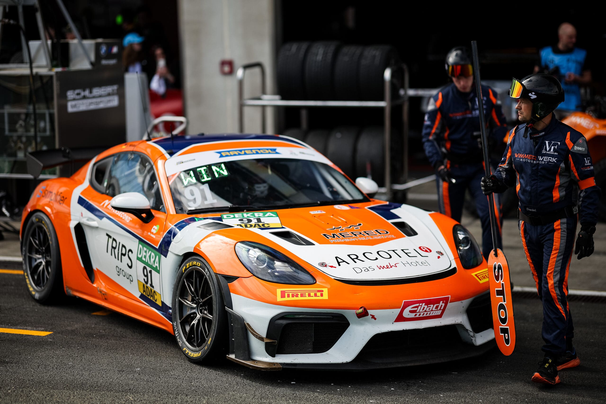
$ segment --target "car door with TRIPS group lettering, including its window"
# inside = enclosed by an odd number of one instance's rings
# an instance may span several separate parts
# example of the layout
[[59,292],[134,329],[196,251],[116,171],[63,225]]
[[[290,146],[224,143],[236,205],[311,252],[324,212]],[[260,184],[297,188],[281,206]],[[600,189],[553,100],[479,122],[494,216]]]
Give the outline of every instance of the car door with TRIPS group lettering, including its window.
[[[94,224],[83,216],[92,235],[95,266],[107,288],[130,299],[162,310],[161,259],[159,247],[166,213],[158,177],[150,159],[128,151],[113,156],[105,174],[102,193],[93,190],[90,203],[101,213]],[[144,223],[110,205],[112,198],[126,192],[141,193],[150,201],[153,219]],[[101,217],[101,219],[99,219]],[[87,237],[88,239],[88,237]]]

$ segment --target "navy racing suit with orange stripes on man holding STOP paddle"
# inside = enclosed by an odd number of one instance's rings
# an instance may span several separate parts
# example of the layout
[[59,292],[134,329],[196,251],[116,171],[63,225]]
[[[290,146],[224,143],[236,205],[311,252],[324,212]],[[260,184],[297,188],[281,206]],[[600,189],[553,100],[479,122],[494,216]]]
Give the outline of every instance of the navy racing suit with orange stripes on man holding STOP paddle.
[[522,246],[543,302],[542,350],[559,356],[574,336],[567,294],[578,216],[582,226],[596,225],[601,191],[580,132],[554,117],[541,131],[524,130],[511,130],[494,175],[516,187]]

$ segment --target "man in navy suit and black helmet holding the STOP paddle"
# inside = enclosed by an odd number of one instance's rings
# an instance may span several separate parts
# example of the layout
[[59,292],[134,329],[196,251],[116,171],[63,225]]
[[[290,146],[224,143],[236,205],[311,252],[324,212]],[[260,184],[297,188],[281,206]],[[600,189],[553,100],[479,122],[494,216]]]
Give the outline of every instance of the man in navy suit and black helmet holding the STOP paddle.
[[568,267],[577,222],[574,254],[581,259],[593,253],[600,188],[585,137],[553,116],[564,101],[558,80],[547,74],[513,79],[510,96],[518,99],[520,124],[511,130],[496,172],[482,177],[481,186],[487,195],[516,187],[522,246],[543,302],[545,356],[532,380],[555,385],[558,370],[581,363],[572,343]]

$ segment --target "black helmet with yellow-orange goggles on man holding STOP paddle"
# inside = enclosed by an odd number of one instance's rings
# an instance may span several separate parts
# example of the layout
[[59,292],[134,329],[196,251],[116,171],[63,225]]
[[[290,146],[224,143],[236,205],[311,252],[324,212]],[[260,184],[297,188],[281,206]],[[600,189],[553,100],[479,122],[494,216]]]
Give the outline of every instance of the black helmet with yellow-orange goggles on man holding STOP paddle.
[[528,98],[532,102],[530,123],[541,121],[564,102],[564,90],[558,79],[545,73],[530,75],[521,81],[514,78],[509,89],[511,98]]

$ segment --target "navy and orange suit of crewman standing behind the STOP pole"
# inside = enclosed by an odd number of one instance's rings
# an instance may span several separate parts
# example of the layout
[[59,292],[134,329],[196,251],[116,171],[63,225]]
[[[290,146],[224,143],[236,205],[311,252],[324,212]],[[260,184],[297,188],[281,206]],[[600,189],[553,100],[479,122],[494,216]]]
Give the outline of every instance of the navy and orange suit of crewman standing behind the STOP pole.
[[[422,140],[431,165],[436,169],[444,165],[456,181],[452,184],[436,176],[440,213],[461,222],[465,190],[468,189],[482,222],[482,254],[487,258],[493,249],[493,242],[488,198],[482,193],[479,183],[485,170],[475,88],[473,85],[470,93],[461,93],[454,84],[449,84],[438,91],[429,101]],[[502,142],[507,136],[507,122],[497,97],[496,91],[482,85],[484,116],[487,117],[491,142]],[[497,195],[494,200],[501,247],[501,206]]]

